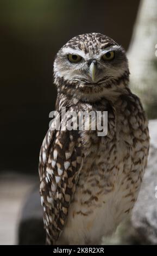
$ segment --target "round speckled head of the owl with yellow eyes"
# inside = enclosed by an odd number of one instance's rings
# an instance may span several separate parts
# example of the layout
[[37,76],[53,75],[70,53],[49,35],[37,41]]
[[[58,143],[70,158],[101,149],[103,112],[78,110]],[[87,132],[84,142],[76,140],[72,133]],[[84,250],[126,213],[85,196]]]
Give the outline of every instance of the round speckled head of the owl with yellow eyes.
[[99,99],[120,93],[129,80],[128,60],[124,49],[100,33],[78,35],[56,55],[54,82],[59,92]]

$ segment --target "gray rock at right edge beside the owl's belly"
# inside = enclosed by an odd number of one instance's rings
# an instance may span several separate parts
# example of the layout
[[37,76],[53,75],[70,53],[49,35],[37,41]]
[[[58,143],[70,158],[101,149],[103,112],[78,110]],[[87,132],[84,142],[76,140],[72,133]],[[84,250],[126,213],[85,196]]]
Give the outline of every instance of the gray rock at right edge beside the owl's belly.
[[157,120],[149,121],[149,132],[148,167],[131,223],[145,243],[157,245]]

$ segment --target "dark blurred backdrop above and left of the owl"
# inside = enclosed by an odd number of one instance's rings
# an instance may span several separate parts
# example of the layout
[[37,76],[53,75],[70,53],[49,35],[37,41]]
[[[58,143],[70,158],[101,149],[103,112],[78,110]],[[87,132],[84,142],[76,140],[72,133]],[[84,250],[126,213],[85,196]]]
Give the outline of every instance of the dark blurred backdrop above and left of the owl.
[[0,170],[38,172],[59,48],[75,35],[101,32],[127,50],[138,7],[137,0],[1,1]]

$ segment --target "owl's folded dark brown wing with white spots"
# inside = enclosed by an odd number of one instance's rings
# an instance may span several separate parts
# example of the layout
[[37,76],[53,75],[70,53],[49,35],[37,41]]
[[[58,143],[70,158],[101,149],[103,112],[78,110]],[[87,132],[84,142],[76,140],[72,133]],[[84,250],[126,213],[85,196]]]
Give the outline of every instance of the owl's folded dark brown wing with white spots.
[[48,130],[40,150],[40,195],[47,243],[64,227],[83,163],[79,133]]

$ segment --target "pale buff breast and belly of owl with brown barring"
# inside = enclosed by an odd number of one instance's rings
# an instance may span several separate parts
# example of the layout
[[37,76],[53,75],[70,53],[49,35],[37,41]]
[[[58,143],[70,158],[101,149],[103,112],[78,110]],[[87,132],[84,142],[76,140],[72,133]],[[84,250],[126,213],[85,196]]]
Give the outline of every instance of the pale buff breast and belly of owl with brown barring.
[[106,136],[80,132],[84,163],[63,233],[71,243],[97,244],[130,214],[137,199],[147,164],[148,127],[143,113],[125,107],[109,109]]

